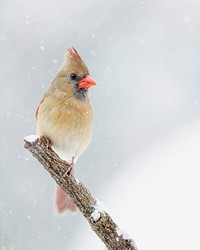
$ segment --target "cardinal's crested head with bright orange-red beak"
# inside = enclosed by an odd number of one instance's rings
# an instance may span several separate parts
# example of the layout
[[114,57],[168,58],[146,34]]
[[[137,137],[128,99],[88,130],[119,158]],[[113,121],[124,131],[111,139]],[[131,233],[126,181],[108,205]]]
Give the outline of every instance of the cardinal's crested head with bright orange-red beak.
[[96,82],[89,75],[89,70],[82,58],[73,47],[67,48],[63,65],[61,66],[54,84],[62,91],[74,94],[83,99],[87,96],[88,89]]

